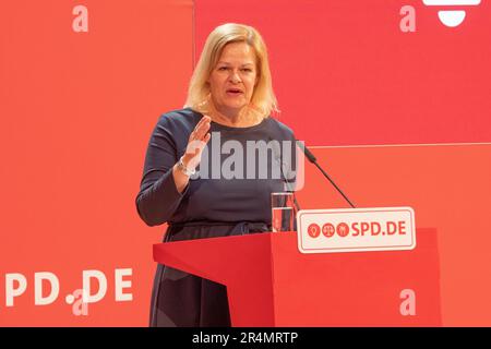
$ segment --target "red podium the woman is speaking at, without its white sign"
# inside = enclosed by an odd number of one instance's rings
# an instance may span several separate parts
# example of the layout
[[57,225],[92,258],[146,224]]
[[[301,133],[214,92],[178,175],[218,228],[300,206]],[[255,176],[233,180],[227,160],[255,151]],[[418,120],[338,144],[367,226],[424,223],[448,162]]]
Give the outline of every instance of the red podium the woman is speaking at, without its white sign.
[[441,326],[435,229],[410,251],[302,254],[297,232],[154,245],[154,260],[227,286],[235,327]]

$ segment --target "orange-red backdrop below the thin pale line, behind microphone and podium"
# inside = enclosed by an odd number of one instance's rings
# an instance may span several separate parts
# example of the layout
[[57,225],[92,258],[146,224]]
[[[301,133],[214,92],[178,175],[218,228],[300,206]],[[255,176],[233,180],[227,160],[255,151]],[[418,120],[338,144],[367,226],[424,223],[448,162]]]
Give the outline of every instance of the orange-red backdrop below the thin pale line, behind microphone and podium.
[[[312,152],[357,207],[410,206],[417,228],[436,228],[444,326],[491,324],[491,144]],[[298,201],[301,208],[348,207],[309,164]]]

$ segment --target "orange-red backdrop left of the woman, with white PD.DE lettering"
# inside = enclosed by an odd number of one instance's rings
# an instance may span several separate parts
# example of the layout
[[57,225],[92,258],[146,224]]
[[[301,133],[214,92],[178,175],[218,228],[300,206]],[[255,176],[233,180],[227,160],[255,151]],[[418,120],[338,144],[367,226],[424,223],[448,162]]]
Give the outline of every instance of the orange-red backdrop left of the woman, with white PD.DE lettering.
[[[192,2],[82,3],[87,33],[72,29],[80,1],[0,5],[0,326],[147,324],[163,229],[140,220],[134,197],[158,117],[183,105]],[[115,301],[117,268],[132,268],[132,301]],[[89,269],[105,274],[107,293],[74,316],[65,296]],[[49,305],[34,305],[38,272],[60,281]],[[27,279],[14,306],[10,273]]]

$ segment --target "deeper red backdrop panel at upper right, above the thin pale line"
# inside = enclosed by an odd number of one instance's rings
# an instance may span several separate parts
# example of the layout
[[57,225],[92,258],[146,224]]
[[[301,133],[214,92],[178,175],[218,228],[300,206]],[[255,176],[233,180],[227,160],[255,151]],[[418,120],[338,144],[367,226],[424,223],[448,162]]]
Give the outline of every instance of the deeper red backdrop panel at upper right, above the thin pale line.
[[422,1],[195,2],[197,51],[224,22],[262,33],[282,120],[308,145],[491,141],[489,1],[455,28]]

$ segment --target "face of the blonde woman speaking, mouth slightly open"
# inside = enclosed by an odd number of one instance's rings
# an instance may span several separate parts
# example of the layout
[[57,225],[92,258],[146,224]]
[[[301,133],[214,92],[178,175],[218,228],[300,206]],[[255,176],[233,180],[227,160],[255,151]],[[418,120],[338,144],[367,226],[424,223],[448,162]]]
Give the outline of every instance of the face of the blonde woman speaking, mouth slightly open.
[[237,116],[251,101],[256,79],[254,49],[246,43],[226,45],[208,79],[215,108]]

